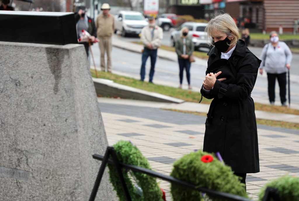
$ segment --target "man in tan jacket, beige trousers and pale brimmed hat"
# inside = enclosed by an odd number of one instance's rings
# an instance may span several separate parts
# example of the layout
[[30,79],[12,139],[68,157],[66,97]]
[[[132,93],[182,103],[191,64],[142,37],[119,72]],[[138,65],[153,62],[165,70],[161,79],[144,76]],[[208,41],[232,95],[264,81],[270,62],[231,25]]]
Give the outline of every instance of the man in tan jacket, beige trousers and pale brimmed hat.
[[111,51],[112,51],[112,34],[115,30],[114,16],[109,13],[109,4],[102,4],[103,11],[96,22],[97,37],[100,39],[99,47],[101,52],[101,69],[105,71],[105,51],[107,53],[107,70],[111,72]]

